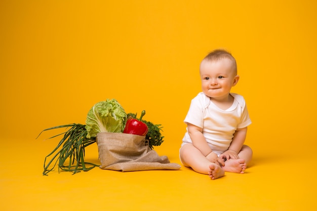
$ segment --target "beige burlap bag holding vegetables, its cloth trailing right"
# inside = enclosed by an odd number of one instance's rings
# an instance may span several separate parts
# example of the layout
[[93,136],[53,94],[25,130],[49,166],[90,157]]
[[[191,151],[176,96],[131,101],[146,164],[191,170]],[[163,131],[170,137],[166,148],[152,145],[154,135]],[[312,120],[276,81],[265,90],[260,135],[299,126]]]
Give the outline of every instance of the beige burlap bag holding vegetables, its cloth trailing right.
[[97,145],[102,169],[122,172],[178,170],[167,156],[159,156],[146,145],[144,136],[124,133],[98,133]]

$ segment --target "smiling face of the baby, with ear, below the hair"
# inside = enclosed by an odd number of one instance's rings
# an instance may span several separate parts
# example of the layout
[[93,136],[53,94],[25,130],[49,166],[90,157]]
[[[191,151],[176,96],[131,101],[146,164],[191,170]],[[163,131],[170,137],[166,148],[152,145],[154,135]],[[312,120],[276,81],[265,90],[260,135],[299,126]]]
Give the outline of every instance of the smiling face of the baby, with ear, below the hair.
[[228,97],[231,88],[239,80],[229,59],[202,61],[200,74],[205,95],[219,100]]

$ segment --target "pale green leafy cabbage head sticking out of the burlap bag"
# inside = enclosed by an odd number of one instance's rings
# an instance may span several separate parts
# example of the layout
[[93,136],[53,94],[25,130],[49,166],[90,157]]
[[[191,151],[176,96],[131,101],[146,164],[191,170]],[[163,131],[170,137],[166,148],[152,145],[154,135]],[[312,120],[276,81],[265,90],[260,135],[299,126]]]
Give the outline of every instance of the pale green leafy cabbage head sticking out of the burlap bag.
[[122,133],[126,122],[127,114],[115,99],[98,102],[87,114],[87,138],[96,137],[97,133],[102,132]]

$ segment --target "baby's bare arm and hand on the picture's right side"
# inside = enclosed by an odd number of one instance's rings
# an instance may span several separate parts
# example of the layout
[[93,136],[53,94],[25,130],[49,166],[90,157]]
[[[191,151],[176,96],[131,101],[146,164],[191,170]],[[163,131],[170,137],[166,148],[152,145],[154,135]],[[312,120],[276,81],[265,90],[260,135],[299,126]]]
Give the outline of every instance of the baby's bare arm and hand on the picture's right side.
[[232,142],[228,150],[222,153],[220,155],[220,158],[227,159],[227,160],[230,158],[233,158],[233,159],[239,158],[238,154],[247,137],[247,129],[248,128],[246,127],[246,128],[237,129],[235,131],[235,133],[233,134]]

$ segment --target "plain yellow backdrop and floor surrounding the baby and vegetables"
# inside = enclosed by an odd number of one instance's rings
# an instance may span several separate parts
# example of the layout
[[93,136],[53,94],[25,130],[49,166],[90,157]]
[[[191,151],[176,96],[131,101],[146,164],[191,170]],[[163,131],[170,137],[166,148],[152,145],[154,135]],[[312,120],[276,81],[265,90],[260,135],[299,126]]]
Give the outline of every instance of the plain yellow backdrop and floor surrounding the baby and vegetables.
[[[316,210],[316,11],[308,0],[1,1],[1,209]],[[39,132],[85,123],[108,98],[162,124],[155,150],[180,163],[199,64],[216,48],[237,60],[232,92],[245,97],[253,121],[250,174],[209,181],[182,167],[41,176],[58,140],[44,140],[54,132],[35,140]],[[87,152],[94,162],[96,150]]]

